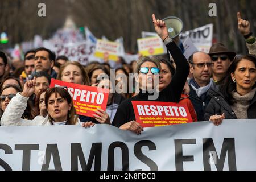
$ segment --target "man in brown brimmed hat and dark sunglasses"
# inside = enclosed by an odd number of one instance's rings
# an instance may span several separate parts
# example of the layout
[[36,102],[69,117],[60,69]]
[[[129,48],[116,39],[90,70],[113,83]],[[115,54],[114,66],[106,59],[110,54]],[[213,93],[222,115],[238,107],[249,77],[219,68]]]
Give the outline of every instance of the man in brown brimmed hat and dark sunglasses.
[[222,43],[214,43],[210,48],[209,55],[214,63],[212,80],[216,85],[220,85],[226,77],[230,63],[236,57],[236,52],[228,51],[228,48]]

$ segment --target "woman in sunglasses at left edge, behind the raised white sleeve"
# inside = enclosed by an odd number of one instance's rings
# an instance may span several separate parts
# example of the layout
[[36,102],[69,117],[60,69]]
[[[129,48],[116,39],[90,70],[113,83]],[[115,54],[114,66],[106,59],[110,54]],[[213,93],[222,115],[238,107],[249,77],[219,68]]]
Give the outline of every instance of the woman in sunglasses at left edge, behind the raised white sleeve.
[[[6,110],[6,107],[9,105],[10,101],[13,97],[16,96],[18,92],[22,92],[17,85],[7,85],[0,92],[0,102],[1,102],[1,110],[0,117],[2,117],[3,113]],[[21,113],[21,118],[23,119],[34,119],[36,113],[32,110],[31,103],[28,102],[27,106],[24,108],[23,113]]]

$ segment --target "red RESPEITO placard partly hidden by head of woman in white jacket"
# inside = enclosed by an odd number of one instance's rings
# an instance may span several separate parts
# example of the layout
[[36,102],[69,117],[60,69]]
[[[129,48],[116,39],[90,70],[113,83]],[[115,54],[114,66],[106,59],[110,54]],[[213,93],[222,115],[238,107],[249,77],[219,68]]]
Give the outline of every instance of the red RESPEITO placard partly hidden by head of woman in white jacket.
[[52,79],[50,88],[58,86],[67,86],[77,114],[94,118],[93,114],[95,114],[94,111],[97,111],[97,108],[106,110],[109,97],[108,89],[98,89],[97,87]]

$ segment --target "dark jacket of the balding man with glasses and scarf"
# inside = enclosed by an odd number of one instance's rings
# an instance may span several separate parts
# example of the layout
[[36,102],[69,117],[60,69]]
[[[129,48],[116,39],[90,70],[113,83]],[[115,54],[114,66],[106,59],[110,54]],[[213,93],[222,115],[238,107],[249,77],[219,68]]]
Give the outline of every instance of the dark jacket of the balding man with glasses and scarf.
[[205,97],[203,100],[202,98],[198,97],[196,91],[189,85],[190,92],[189,92],[189,99],[191,100],[197,115],[197,121],[204,121],[204,113],[207,105],[210,102],[211,97]]

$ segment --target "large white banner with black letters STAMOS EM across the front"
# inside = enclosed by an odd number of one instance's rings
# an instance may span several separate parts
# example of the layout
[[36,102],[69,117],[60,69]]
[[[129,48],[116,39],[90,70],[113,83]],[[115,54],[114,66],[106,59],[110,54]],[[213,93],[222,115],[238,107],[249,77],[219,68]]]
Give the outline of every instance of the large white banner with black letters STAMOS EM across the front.
[[146,128],[0,127],[0,170],[255,170],[256,119]]

